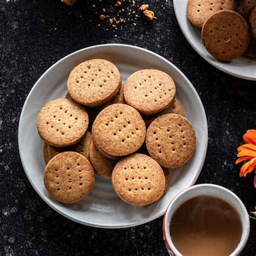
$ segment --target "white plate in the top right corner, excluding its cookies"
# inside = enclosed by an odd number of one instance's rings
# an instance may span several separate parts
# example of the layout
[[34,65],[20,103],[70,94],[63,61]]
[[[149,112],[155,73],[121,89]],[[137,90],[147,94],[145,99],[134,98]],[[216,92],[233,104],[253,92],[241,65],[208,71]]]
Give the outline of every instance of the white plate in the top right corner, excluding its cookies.
[[231,62],[220,62],[207,52],[201,43],[201,30],[192,25],[186,16],[186,6],[188,0],[173,0],[174,11],[180,29],[184,33],[187,41],[201,57],[215,68],[224,71],[232,76],[248,80],[256,80],[256,59],[240,56]]

